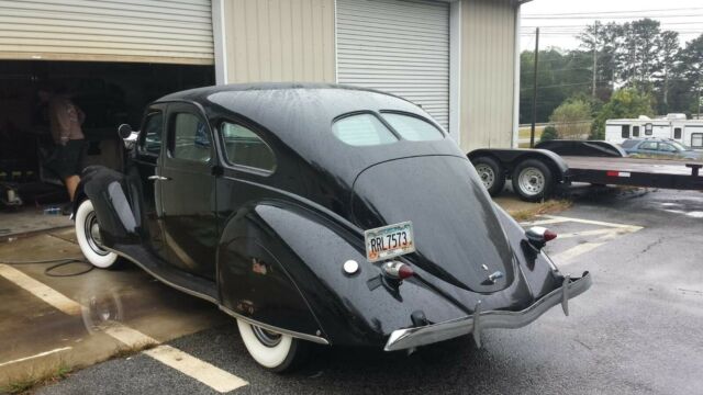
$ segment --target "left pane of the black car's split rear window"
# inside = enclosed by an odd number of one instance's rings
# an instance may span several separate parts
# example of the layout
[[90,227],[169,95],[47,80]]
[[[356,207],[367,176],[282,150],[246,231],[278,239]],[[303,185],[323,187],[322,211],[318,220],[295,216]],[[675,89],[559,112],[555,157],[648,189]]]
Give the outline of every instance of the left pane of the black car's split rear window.
[[353,146],[373,146],[398,142],[398,137],[371,114],[345,116],[332,125],[332,133]]

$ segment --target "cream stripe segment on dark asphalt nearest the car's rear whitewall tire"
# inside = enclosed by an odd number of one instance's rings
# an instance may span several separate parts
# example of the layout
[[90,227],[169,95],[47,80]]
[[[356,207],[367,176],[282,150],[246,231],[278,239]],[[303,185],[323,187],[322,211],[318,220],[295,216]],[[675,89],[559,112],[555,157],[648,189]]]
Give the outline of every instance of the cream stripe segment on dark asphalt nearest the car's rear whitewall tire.
[[232,373],[167,345],[146,350],[144,353],[220,393],[234,391],[249,384]]

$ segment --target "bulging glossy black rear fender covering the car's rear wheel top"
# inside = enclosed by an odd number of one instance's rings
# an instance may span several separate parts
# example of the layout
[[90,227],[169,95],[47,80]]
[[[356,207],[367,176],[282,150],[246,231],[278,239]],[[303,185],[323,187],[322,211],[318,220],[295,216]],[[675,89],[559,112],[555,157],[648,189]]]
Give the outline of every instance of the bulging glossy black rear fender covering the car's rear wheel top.
[[[360,230],[299,206],[249,207],[231,219],[220,248],[226,308],[331,343],[382,346],[393,330],[414,325],[414,311],[429,321],[466,315],[415,279],[390,292],[377,281],[379,264],[366,260]],[[356,273],[344,272],[347,260],[358,262]]]

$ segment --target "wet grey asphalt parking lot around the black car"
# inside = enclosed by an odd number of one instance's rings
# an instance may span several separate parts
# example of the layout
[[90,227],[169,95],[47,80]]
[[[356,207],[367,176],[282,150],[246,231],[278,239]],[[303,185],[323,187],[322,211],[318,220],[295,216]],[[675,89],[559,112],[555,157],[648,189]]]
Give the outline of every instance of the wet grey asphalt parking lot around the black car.
[[[487,330],[480,350],[468,337],[421,349],[412,356],[319,349],[300,371],[277,375],[250,360],[236,325],[216,308],[127,268],[114,273],[125,282],[121,283],[122,290],[132,290],[126,296],[120,294],[127,311],[121,325],[168,346],[94,364],[38,388],[37,393],[701,393],[703,193],[631,190],[587,194],[571,208],[531,223],[560,234],[547,247],[548,252],[563,272],[580,275],[584,270],[591,271],[593,286],[571,301],[569,317],[560,308],[553,308],[525,328]],[[38,269],[20,270],[68,297],[79,294],[62,289],[56,279],[43,278]],[[89,274],[94,276],[96,272]],[[137,290],[134,284],[138,284]],[[10,296],[7,290],[12,289],[11,284],[0,284],[0,289],[5,290],[4,297]],[[163,316],[174,323],[171,328],[187,326],[188,330],[179,331],[185,336],[171,340],[176,336],[159,330],[159,325],[149,319],[152,309],[136,307],[140,302],[144,305],[145,298],[156,301],[152,302],[158,307],[154,312],[169,312]],[[180,305],[183,308],[179,312]],[[43,306],[38,300],[24,308],[8,311],[3,304],[0,311],[3,320],[13,315],[26,319],[31,315],[26,308],[42,309],[42,316],[53,319],[63,317],[62,312]],[[133,308],[135,312],[130,313]],[[183,324],[189,323],[189,315],[198,315],[200,324]],[[12,336],[9,330],[2,334],[3,339]],[[93,341],[109,338],[124,340],[118,331]],[[30,348],[12,349],[12,356],[0,351],[0,371],[12,364],[4,365],[11,359],[21,359],[22,353],[31,356]],[[180,353],[169,357],[169,350]]]

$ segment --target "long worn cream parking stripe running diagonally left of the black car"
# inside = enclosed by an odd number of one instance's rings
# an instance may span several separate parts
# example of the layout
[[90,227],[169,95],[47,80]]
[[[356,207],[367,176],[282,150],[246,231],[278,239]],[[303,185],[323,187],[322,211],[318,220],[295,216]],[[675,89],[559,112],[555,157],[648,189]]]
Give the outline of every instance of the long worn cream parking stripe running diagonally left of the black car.
[[[78,302],[67,297],[66,295],[49,287],[41,281],[37,281],[24,274],[18,269],[0,263],[0,275],[65,314],[71,316],[81,315],[81,305]],[[103,328],[103,330],[113,339],[129,347],[141,347],[152,343],[159,343],[150,336],[144,335],[136,329],[130,328],[119,323],[107,326],[105,328]],[[150,352],[157,349],[161,349],[161,351]],[[217,392],[228,392],[248,384],[246,381],[237,377],[234,374],[225,372],[208,362],[201,361],[196,357],[192,357],[170,346],[158,346],[155,349],[144,351],[144,353],[166,364],[167,366],[174,368],[179,372],[198,380],[199,382],[210,386]],[[40,356],[33,356],[33,358],[40,358]]]

